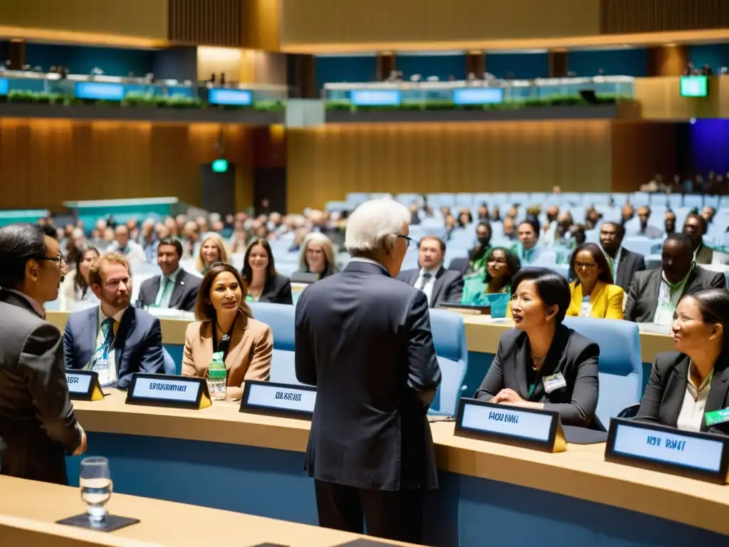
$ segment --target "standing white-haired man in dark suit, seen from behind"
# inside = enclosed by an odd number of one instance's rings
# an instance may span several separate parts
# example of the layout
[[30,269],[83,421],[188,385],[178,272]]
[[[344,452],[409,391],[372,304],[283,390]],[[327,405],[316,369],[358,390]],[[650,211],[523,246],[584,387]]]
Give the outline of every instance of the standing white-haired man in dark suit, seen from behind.
[[351,261],[296,307],[296,376],[316,386],[305,469],[319,525],[421,543],[437,488],[426,413],[440,384],[428,299],[396,278],[410,212],[390,199],[349,217]]

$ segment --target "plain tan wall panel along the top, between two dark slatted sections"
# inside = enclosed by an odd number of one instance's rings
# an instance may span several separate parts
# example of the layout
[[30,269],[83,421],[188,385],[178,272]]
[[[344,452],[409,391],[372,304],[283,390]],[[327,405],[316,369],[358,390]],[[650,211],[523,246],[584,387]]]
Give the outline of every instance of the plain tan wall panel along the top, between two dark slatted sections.
[[598,34],[599,0],[281,0],[281,47]]

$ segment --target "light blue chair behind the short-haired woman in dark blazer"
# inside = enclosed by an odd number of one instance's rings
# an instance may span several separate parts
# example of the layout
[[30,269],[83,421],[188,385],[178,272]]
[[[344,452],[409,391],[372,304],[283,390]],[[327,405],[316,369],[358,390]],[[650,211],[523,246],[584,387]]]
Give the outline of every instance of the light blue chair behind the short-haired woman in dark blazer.
[[643,365],[638,325],[622,319],[566,317],[564,324],[600,346],[597,416],[605,427],[623,408],[639,403]]

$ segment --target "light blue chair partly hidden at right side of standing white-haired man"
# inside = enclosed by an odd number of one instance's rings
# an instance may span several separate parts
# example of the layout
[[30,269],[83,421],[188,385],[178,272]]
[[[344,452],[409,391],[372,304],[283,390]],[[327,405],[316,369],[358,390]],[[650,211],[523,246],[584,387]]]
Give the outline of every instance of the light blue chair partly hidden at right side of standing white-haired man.
[[443,379],[429,414],[453,416],[456,414],[461,392],[466,389],[463,381],[468,368],[468,348],[463,316],[452,311],[432,309],[430,328]]

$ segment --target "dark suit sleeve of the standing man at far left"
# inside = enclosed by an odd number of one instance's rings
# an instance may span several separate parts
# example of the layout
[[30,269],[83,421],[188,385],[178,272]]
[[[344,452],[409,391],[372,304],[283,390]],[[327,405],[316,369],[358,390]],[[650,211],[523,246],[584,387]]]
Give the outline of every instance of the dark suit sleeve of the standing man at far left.
[[26,338],[18,361],[18,372],[26,380],[38,418],[48,436],[73,452],[81,444],[74,407],[69,399],[63,368],[61,333],[46,323]]

